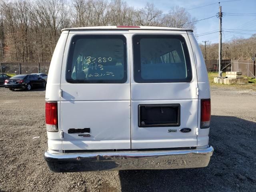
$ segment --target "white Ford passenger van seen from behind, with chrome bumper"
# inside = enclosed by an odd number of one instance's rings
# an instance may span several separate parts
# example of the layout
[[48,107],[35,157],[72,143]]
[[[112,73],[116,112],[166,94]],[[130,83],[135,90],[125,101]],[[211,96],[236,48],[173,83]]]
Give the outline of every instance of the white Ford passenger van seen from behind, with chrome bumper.
[[54,172],[205,167],[210,87],[192,30],[63,29],[46,87]]

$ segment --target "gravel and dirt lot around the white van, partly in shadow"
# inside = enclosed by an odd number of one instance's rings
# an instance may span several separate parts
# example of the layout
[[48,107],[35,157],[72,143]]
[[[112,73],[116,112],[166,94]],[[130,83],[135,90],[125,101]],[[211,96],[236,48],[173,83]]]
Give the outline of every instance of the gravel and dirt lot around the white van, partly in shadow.
[[[44,90],[0,87],[0,191],[256,191],[256,92],[212,86],[210,144],[206,168],[51,173]],[[40,136],[40,138],[33,137]]]

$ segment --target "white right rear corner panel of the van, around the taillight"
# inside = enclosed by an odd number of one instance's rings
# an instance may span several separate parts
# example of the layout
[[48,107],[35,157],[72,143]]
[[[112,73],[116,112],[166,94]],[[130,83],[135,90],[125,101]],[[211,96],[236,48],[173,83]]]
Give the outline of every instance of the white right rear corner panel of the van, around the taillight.
[[[206,65],[204,62],[204,57],[202,55],[202,52],[200,50],[200,47],[196,41],[196,38],[194,37],[192,32],[188,32],[188,36],[191,42],[191,46],[193,48],[195,61],[196,61],[196,68],[198,70],[198,89],[199,89],[199,95],[198,95],[198,122],[201,121],[201,99],[208,99],[210,98],[210,85],[208,80],[208,73],[206,69]],[[198,124],[198,127],[200,127],[200,123]],[[198,146],[205,146],[209,143],[209,131],[210,128],[201,129],[198,130],[198,136],[197,140]]]

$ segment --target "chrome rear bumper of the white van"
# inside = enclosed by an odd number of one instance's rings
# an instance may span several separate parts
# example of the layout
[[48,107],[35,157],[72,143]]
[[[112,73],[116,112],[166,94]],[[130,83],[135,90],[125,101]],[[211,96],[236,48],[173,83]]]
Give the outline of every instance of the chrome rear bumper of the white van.
[[62,153],[45,152],[53,172],[206,167],[214,149]]

